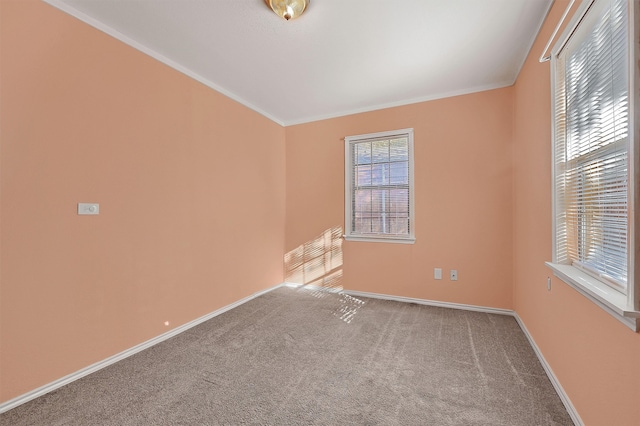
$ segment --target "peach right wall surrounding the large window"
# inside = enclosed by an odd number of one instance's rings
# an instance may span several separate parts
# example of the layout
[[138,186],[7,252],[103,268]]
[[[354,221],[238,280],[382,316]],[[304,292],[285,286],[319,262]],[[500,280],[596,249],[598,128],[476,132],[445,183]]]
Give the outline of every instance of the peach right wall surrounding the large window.
[[554,4],[515,85],[514,304],[584,423],[631,426],[640,421],[640,334],[544,264],[552,244],[551,83],[550,63],[538,57],[567,4]]

